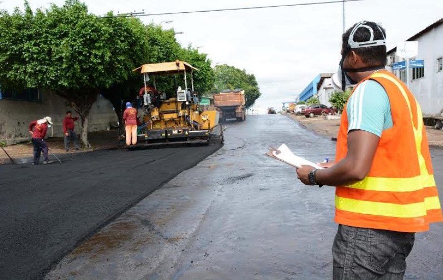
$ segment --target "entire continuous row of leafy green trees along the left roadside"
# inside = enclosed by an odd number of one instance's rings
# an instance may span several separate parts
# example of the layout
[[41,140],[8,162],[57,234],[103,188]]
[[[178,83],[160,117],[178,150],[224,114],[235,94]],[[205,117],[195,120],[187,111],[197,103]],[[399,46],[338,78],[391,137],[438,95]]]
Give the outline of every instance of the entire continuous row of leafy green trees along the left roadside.
[[[79,0],[35,12],[25,1],[23,11],[0,11],[0,35],[0,85],[50,89],[66,98],[81,118],[85,146],[89,145],[89,112],[97,96],[108,98],[119,116],[122,101],[133,101],[143,85],[142,76],[132,72],[142,64],[190,63],[200,70],[193,73],[199,95],[241,88],[246,106],[261,95],[253,74],[227,65],[211,68],[207,54],[191,45],[182,47],[173,29],[144,25],[136,18],[99,19]],[[190,85],[190,75],[187,77]],[[157,88],[170,95],[182,83],[181,77],[174,76],[156,80]]]

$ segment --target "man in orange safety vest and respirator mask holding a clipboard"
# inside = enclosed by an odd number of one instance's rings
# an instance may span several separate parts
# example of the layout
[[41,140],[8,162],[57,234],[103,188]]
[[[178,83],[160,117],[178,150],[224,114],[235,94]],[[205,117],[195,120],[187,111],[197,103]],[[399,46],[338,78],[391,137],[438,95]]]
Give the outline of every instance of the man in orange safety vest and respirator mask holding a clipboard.
[[354,24],[331,79],[356,85],[342,113],[335,163],[302,166],[306,185],[336,186],[334,279],[403,279],[416,232],[443,221],[419,103],[384,69],[384,29]]

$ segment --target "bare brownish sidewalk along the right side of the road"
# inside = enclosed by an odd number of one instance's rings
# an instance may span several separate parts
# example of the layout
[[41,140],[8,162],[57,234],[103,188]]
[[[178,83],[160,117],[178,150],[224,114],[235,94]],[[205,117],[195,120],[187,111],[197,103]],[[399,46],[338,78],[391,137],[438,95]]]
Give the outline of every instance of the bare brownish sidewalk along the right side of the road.
[[[300,123],[309,130],[324,135],[330,139],[337,140],[340,127],[340,120],[325,120],[323,117],[306,118],[304,116],[296,116],[286,114],[288,118]],[[429,147],[443,148],[443,131],[426,126]]]

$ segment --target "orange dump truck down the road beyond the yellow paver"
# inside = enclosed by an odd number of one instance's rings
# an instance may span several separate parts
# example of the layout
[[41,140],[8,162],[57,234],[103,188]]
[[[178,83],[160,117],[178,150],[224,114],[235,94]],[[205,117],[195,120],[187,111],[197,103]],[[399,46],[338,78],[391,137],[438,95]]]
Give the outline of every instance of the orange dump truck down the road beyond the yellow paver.
[[225,90],[214,94],[214,106],[217,107],[220,114],[220,122],[225,122],[228,119],[246,120],[245,100],[244,91],[240,89]]

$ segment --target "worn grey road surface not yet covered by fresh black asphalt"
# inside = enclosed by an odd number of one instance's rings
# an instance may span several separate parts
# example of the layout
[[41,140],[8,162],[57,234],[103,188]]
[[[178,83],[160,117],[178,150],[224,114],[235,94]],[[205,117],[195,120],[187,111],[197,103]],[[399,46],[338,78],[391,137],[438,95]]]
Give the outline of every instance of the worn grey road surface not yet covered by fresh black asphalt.
[[[286,116],[226,124],[225,146],[78,246],[47,279],[330,279],[334,188],[302,185],[265,156],[287,143],[312,161],[335,143]],[[443,195],[443,150],[432,150]],[[405,279],[441,279],[443,223],[416,236]]]

